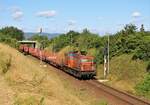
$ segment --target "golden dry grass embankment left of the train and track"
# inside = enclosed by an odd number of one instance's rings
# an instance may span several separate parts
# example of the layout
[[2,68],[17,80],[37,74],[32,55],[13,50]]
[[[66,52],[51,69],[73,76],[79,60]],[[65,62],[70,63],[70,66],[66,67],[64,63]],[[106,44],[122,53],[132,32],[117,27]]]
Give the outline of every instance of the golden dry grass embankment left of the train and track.
[[[1,105],[94,105],[86,90],[61,81],[51,67],[42,68],[17,50],[0,44]],[[69,80],[68,80],[69,81]],[[98,104],[99,105],[99,104]]]

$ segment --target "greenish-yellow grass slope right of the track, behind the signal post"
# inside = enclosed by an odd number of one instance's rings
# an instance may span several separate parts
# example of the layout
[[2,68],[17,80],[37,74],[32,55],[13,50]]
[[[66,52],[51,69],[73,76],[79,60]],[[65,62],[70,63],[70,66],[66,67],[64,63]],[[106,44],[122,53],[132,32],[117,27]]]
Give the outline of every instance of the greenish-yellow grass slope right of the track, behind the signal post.
[[[146,64],[143,61],[132,60],[132,55],[121,55],[110,61],[109,85],[134,93],[134,86],[146,74]],[[103,65],[98,68],[98,78],[103,78]]]

